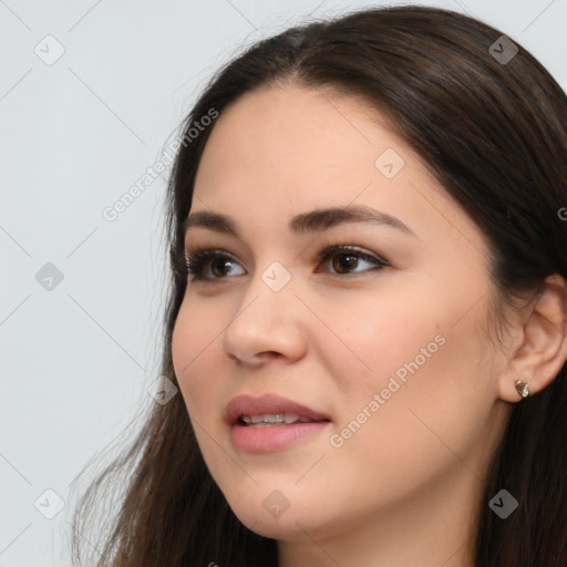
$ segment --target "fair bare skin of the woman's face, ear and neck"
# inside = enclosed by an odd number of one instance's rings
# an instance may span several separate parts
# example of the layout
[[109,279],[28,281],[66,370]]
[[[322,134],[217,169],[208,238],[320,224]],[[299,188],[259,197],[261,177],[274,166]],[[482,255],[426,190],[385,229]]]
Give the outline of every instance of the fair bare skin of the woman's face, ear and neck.
[[[215,281],[189,277],[173,360],[199,447],[238,518],[278,539],[282,567],[473,566],[473,511],[509,411],[545,388],[567,357],[565,281],[511,313],[502,347],[488,340],[487,247],[476,225],[422,159],[350,95],[275,85],[217,120],[195,183],[192,214],[229,215],[241,237],[190,228],[186,247],[237,261]],[[392,178],[374,162],[394,148]],[[289,219],[328,206],[368,205],[406,224],[343,224],[291,234]],[[339,272],[318,262],[333,244],[363,259]],[[343,257],[342,257],[343,258]],[[279,291],[261,279],[280,262]],[[349,275],[349,272],[351,275]],[[396,370],[444,338],[406,382],[339,449],[339,435]],[[420,359],[421,360],[421,359]],[[324,434],[271,453],[244,453],[223,421],[237,394],[275,392],[328,414]],[[280,491],[272,517],[262,501]],[[487,505],[487,503],[486,503]]]

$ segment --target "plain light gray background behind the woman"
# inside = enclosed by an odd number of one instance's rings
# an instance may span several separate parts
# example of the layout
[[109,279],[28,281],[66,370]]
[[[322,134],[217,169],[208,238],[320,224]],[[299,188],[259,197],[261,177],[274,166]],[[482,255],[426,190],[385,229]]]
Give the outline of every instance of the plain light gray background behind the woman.
[[[103,209],[245,45],[310,13],[380,3],[0,0],[1,567],[71,565],[70,484],[156,403],[165,179],[114,221]],[[567,86],[567,0],[414,3],[487,21]],[[47,35],[64,48],[53,64],[34,52],[56,53]],[[48,262],[64,276],[51,290],[35,279]],[[47,489],[64,502],[53,519],[34,506],[55,505]]]

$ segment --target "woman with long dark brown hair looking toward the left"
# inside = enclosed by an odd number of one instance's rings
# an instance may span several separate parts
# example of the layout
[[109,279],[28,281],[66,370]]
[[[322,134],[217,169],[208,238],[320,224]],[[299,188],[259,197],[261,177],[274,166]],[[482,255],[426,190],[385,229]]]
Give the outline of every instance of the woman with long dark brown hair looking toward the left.
[[565,565],[549,73],[463,14],[367,9],[251,47],[183,132],[181,395],[85,495],[127,476],[97,565]]

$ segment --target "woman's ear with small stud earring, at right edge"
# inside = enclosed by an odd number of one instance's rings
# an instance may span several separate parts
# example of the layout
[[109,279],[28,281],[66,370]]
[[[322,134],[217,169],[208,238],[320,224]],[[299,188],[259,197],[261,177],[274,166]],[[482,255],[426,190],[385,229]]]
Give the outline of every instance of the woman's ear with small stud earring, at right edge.
[[499,396],[519,402],[516,380],[529,384],[533,395],[549,385],[567,359],[567,284],[558,274],[545,280],[535,305],[523,313],[506,372],[498,383]]

